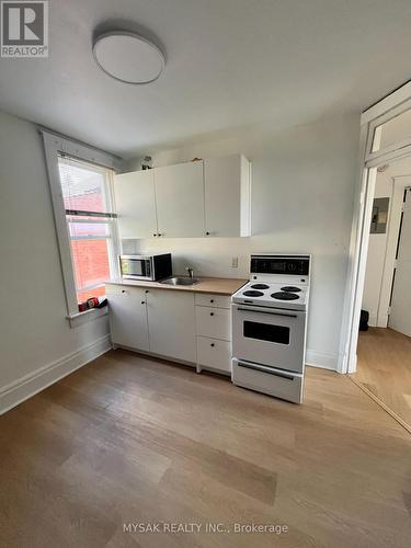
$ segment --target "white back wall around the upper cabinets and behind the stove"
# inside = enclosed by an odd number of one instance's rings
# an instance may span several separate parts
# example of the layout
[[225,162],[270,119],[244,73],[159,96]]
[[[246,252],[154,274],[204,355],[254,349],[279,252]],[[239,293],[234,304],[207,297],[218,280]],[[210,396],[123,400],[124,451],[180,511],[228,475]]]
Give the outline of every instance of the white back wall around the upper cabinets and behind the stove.
[[[239,130],[230,139],[153,155],[155,165],[165,165],[244,153],[253,162],[254,236],[136,240],[125,242],[125,250],[171,251],[175,273],[190,264],[197,275],[227,277],[247,277],[254,251],[312,253],[308,362],[336,368],[358,137],[358,116],[328,116],[287,132]],[[232,256],[238,269],[230,266]]]

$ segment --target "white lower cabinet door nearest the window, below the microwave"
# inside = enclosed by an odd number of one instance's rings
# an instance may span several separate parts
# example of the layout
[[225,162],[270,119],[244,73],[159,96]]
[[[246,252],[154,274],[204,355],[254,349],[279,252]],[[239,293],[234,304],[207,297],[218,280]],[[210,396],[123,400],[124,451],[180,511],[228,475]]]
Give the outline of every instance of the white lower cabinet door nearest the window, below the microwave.
[[145,290],[138,287],[107,286],[106,295],[113,343],[148,352]]

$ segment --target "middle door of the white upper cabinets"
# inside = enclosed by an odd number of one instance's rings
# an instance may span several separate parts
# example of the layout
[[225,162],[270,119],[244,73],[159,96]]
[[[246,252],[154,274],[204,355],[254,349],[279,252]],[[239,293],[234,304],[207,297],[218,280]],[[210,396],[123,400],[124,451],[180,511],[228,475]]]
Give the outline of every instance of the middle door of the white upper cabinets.
[[204,237],[203,162],[156,168],[155,184],[159,233]]

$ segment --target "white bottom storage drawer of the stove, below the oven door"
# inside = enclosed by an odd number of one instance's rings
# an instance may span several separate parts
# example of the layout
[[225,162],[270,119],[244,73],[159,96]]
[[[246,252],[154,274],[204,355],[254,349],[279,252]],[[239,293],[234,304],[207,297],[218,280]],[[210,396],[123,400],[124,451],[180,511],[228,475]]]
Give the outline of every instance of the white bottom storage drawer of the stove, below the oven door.
[[233,358],[232,383],[294,403],[302,401],[301,374]]

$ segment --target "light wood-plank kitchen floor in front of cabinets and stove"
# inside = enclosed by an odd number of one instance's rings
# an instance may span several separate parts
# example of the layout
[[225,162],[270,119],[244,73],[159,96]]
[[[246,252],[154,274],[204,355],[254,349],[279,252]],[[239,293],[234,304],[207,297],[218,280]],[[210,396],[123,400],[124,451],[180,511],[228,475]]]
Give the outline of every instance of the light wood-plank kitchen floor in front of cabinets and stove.
[[409,547],[410,441],[346,376],[295,406],[111,351],[0,418],[0,546]]

